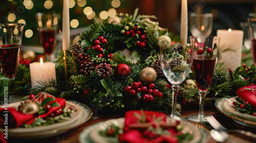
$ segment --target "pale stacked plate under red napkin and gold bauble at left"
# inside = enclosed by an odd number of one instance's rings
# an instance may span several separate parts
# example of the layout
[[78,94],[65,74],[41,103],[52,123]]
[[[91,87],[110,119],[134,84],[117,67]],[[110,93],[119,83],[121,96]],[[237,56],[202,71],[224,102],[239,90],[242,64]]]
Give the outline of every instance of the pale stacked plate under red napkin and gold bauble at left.
[[[12,103],[12,104],[16,106],[16,105],[19,105],[20,103]],[[11,106],[12,104],[9,104],[9,107],[13,107]],[[77,111],[71,114],[71,120],[69,121],[64,121],[61,123],[55,123],[55,124],[40,126],[40,127],[32,127],[32,128],[19,127],[19,128],[9,129],[8,135],[12,138],[30,138],[30,139],[50,137],[50,136],[67,132],[68,130],[87,122],[93,114],[92,110],[88,106],[81,104],[79,102],[67,101],[65,108],[69,108],[70,106],[74,106],[77,109]]]

